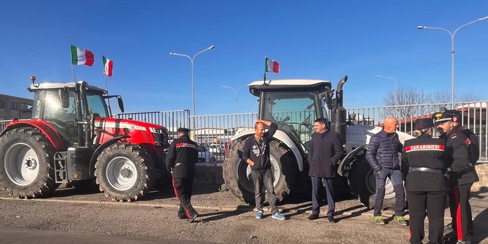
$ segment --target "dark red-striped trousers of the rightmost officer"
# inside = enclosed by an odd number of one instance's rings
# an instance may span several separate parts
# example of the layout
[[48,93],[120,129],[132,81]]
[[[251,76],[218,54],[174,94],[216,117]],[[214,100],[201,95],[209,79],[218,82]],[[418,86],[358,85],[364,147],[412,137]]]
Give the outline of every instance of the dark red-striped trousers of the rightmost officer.
[[453,218],[453,229],[459,241],[469,241],[469,232],[473,229],[473,216],[469,204],[471,186],[472,183],[449,186],[450,217]]

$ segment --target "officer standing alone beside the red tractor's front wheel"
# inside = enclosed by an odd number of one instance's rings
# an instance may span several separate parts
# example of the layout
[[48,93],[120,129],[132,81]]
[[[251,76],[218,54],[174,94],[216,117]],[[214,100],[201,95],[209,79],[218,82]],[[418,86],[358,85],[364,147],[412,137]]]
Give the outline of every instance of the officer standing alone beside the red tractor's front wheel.
[[171,143],[166,156],[166,168],[172,172],[174,194],[179,200],[178,218],[188,218],[192,223],[198,216],[190,202],[198,148],[188,132],[186,128],[178,128],[178,138]]

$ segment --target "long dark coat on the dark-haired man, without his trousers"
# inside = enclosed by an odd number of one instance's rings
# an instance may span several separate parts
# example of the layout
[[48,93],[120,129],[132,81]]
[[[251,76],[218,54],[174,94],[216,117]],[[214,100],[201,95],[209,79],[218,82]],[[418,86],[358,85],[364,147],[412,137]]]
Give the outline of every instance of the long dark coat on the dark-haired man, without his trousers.
[[320,178],[336,177],[336,164],[343,155],[341,137],[337,132],[327,130],[311,135],[311,143],[307,161],[309,176]]

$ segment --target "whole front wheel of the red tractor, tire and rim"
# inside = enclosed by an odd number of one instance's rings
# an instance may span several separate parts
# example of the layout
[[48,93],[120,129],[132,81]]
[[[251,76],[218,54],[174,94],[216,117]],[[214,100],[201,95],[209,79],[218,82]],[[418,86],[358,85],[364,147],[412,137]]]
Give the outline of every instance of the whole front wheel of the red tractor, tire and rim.
[[115,143],[97,158],[95,177],[100,191],[114,201],[138,200],[154,184],[154,161],[140,146]]

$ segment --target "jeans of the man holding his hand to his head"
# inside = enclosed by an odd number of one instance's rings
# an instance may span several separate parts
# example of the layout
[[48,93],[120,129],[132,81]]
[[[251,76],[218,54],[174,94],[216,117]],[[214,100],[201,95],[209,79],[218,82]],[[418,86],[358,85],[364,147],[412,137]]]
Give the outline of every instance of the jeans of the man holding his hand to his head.
[[256,200],[258,211],[263,210],[263,193],[261,193],[261,189],[264,184],[268,202],[271,207],[271,213],[275,214],[278,211],[278,208],[276,207],[276,195],[273,186],[273,173],[271,173],[271,168],[268,168],[264,172],[251,171],[251,175],[252,181],[254,182],[254,200]]

